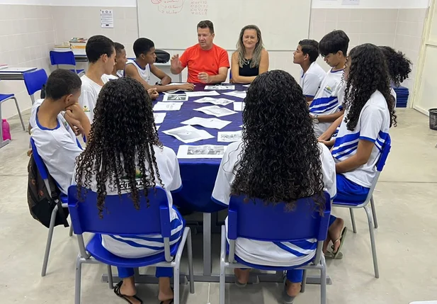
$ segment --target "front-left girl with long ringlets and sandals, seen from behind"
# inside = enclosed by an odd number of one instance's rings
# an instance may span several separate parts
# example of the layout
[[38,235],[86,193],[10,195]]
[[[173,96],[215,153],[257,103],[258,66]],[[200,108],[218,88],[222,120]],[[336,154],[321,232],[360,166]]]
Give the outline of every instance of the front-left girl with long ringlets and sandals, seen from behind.
[[[118,111],[108,111],[108,108]],[[172,225],[170,244],[178,242],[185,223],[173,206],[170,192],[182,186],[178,159],[173,150],[163,147],[159,142],[152,102],[144,86],[129,77],[109,81],[98,96],[95,118],[93,137],[77,159],[77,186],[97,192],[97,206],[103,216],[107,195],[118,196],[118,191],[132,193],[132,204],[137,206],[137,195],[144,193],[147,196],[155,186],[164,188],[169,199]],[[117,125],[117,128],[113,128],[113,125]],[[136,170],[126,172],[124,168],[127,167],[136,167]],[[106,177],[97,181],[97,175]],[[130,182],[132,179],[135,179],[135,183]],[[164,252],[161,235],[147,235],[148,240],[141,237],[132,240],[118,235],[102,235],[102,244],[109,252],[132,259]],[[151,238],[156,240],[151,241]],[[134,269],[118,267],[118,276],[123,281],[117,284],[115,293],[130,303],[142,303],[136,296]],[[165,304],[173,299],[171,276],[173,269],[157,267],[158,299]]]

